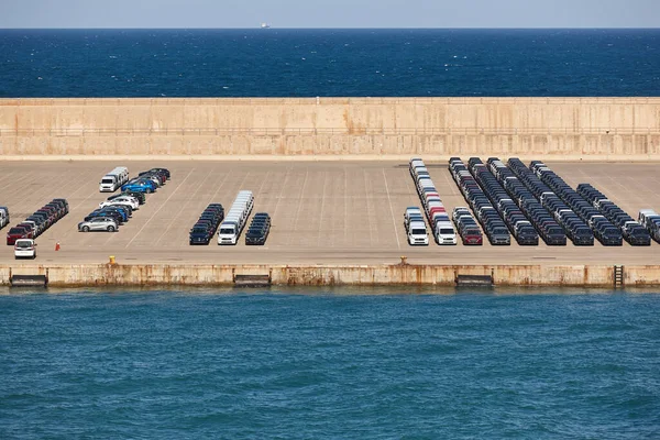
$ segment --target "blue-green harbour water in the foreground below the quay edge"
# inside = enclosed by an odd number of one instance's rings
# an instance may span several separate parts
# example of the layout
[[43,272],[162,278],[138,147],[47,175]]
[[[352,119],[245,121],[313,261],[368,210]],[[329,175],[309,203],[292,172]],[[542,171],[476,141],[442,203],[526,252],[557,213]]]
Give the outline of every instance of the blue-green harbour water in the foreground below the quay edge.
[[519,293],[4,292],[0,438],[660,438],[660,295]]

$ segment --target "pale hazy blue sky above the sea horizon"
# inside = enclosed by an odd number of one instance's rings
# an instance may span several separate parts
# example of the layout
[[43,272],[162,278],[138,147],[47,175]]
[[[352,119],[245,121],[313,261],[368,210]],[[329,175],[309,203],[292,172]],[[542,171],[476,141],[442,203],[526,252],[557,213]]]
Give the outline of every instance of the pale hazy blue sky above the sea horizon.
[[660,0],[0,0],[0,28],[658,28]]

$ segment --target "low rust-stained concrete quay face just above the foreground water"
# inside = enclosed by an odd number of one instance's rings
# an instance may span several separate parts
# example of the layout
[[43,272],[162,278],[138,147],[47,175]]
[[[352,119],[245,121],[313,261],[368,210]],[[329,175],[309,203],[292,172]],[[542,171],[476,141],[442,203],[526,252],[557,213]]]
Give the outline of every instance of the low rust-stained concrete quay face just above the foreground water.
[[[0,285],[12,275],[45,275],[54,287],[233,285],[238,275],[267,275],[285,286],[454,286],[458,275],[491,275],[496,286],[610,287],[607,265],[191,265],[69,264],[0,266]],[[660,266],[626,266],[626,286],[660,285]]]

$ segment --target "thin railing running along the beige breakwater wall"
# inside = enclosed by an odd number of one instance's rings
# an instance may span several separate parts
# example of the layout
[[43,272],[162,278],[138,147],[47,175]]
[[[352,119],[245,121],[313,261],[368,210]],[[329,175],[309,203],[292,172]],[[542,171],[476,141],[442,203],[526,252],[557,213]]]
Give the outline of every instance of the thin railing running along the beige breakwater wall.
[[476,128],[429,128],[429,129],[375,129],[375,128],[56,128],[56,129],[0,129],[0,136],[87,136],[87,135],[584,135],[584,134],[660,134],[659,129],[630,129],[630,128],[501,128],[501,129],[476,129]]

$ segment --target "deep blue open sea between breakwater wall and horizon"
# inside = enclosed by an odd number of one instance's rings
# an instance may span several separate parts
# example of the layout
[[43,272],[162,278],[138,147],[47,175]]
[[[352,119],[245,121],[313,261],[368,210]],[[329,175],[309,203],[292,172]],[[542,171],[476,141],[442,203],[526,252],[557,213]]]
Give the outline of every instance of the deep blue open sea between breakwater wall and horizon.
[[660,30],[1,30],[0,97],[660,96]]

